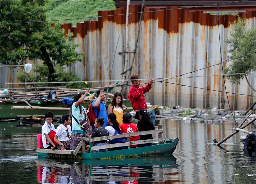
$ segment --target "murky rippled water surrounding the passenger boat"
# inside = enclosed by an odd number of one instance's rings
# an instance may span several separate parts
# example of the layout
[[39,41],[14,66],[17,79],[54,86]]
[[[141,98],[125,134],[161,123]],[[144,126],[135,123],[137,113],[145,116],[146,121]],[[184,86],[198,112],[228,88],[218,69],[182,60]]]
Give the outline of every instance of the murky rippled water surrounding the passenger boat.
[[17,124],[1,122],[1,183],[256,183],[256,158],[245,155],[239,141],[244,133],[222,147],[212,144],[230,134],[234,123],[156,121],[164,137],[180,139],[173,156],[116,162],[38,158],[41,127]]

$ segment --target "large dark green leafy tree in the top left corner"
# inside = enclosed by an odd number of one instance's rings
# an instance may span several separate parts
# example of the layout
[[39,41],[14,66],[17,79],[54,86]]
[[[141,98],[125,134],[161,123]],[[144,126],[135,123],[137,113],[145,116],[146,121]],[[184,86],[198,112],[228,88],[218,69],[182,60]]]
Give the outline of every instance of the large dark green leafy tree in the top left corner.
[[[78,44],[70,42],[72,34],[65,35],[59,24],[52,26],[47,22],[10,24],[44,21],[44,4],[45,1],[1,1],[1,63],[19,65],[27,58],[34,62],[40,59],[43,65],[36,66],[41,69],[35,69],[39,81],[69,81],[70,76],[78,79],[63,71],[64,66],[82,60],[83,53],[75,51]],[[31,77],[35,79],[36,74]],[[23,74],[19,76],[22,81]]]

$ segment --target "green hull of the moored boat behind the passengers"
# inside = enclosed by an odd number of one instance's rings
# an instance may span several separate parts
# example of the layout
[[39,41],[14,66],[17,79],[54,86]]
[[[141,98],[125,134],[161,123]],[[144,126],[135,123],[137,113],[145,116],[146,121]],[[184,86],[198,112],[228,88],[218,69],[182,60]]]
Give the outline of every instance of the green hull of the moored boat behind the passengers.
[[[86,103],[83,104],[83,106],[86,108],[90,103],[92,103],[93,100],[91,101],[86,101]],[[111,101],[107,101],[107,105],[110,104]],[[46,104],[32,104],[32,106],[40,106],[40,107],[64,107],[64,108],[70,108],[70,106],[61,104],[58,102],[49,102]],[[28,106],[25,102],[24,103],[11,103],[11,102],[2,102],[1,103],[1,113],[0,113],[0,119],[15,119],[16,116],[26,116],[26,115],[34,115],[34,114],[40,114],[44,115],[46,112],[49,110],[20,110],[20,109],[12,109],[12,105],[15,106]],[[131,107],[131,103],[129,100],[124,101],[124,105],[126,107]],[[126,112],[130,112],[131,110],[127,110]],[[63,114],[68,114],[69,111],[65,110],[52,110],[54,115],[63,115]]]

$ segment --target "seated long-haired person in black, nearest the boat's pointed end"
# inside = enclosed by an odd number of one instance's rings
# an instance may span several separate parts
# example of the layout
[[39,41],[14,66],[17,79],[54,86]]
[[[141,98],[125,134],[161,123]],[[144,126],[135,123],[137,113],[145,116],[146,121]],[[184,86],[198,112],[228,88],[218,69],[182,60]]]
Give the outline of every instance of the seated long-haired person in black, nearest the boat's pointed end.
[[[151,122],[150,116],[148,112],[145,109],[139,110],[139,117],[140,120],[137,123],[137,127],[139,131],[150,131],[150,130],[155,130],[154,124]],[[152,134],[148,135],[141,135],[140,140],[147,140],[147,139],[153,139]],[[148,143],[148,144],[141,144],[138,145],[138,147],[142,146],[151,146],[153,143]]]

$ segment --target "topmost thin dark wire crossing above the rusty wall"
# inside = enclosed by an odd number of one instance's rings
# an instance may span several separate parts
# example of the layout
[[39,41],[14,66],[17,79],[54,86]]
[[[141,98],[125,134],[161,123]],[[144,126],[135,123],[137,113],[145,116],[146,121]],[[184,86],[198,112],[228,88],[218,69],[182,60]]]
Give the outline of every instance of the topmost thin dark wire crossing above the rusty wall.
[[[242,1],[245,1],[245,0],[225,2],[225,3],[220,3],[219,5],[238,3],[238,2],[242,2]],[[80,17],[80,18],[65,18],[65,19],[57,19],[57,20],[42,20],[42,21],[30,21],[30,22],[18,22],[18,23],[7,23],[7,24],[0,24],[0,25],[14,25],[14,24],[55,22],[55,21],[63,21],[63,20],[77,20],[77,19],[86,19],[86,18],[113,17],[113,16],[120,16],[120,15],[133,15],[133,14],[139,14],[139,13],[151,13],[151,12],[158,12],[158,11],[182,10],[182,9],[200,8],[200,7],[205,7],[205,6],[216,6],[216,5],[217,4],[206,4],[206,5],[181,7],[181,8],[172,8],[172,9],[165,9],[165,10],[140,11],[140,12],[134,12],[134,13],[122,13],[122,14],[114,14],[114,15],[101,15],[101,16]]]

